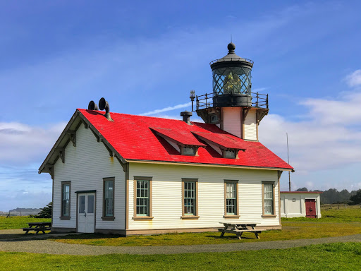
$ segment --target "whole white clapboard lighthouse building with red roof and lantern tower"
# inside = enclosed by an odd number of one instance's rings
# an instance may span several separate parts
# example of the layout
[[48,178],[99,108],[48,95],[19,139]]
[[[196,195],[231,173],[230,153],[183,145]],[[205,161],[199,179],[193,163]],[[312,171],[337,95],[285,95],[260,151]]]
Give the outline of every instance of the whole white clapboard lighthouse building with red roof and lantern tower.
[[105,114],[76,109],[39,168],[53,179],[52,231],[281,229],[279,178],[293,168],[258,141],[268,95],[252,92],[253,62],[234,49],[211,62],[213,92],[191,92],[204,123],[109,112],[104,98]]

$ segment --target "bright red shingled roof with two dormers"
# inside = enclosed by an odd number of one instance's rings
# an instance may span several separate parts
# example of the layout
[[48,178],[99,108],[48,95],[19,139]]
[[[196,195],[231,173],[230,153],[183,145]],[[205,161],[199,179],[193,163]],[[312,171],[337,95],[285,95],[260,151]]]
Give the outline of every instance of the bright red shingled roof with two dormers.
[[[118,113],[111,113],[111,119],[114,121],[108,121],[103,115],[104,112],[78,110],[104,136],[119,155],[127,160],[293,169],[261,143],[240,139],[221,130],[214,124],[192,122],[192,125],[188,125],[184,121],[176,119]],[[176,139],[185,145],[206,145],[206,147],[198,149],[198,156],[181,155],[178,150],[154,131]],[[245,152],[240,152],[239,159],[223,158],[206,142],[202,142],[201,138],[196,138],[196,135],[203,136],[204,133],[207,134],[207,139],[214,136],[212,141],[234,148],[241,146]]]

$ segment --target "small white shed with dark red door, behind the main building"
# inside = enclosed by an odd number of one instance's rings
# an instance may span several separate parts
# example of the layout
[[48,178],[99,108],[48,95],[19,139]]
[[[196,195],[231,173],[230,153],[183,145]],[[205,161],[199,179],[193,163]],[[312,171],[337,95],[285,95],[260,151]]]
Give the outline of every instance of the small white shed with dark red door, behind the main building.
[[322,192],[281,191],[281,217],[321,218]]

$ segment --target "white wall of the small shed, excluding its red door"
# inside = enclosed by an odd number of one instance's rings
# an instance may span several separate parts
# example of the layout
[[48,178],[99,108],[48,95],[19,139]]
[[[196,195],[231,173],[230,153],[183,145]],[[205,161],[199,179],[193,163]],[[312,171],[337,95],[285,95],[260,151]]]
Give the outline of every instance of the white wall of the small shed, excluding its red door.
[[281,217],[306,217],[306,199],[316,200],[317,218],[321,218],[320,196],[318,193],[281,193]]

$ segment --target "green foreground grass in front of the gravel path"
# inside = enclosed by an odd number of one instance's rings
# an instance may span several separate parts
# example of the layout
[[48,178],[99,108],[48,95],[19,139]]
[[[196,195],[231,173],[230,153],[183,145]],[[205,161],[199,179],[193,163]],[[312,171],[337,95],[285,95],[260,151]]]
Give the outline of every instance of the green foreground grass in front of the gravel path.
[[99,256],[0,252],[0,270],[360,270],[361,243],[228,253]]

